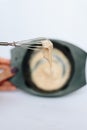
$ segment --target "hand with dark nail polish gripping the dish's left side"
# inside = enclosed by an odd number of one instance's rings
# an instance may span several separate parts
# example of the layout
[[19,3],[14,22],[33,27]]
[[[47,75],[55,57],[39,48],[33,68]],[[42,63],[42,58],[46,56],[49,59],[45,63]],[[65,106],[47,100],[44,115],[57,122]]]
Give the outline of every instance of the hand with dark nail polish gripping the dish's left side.
[[16,90],[16,86],[7,81],[17,72],[16,68],[11,68],[10,60],[0,58],[0,91]]

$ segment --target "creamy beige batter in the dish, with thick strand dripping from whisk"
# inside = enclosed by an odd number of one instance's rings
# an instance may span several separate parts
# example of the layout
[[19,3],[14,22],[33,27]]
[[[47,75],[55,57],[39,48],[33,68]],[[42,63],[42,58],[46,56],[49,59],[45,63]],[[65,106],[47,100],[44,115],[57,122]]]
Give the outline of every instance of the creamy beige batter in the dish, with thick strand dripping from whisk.
[[44,41],[42,51],[32,54],[30,68],[32,81],[44,91],[62,88],[71,72],[71,64],[67,57],[60,50],[53,49],[53,45],[49,41]]

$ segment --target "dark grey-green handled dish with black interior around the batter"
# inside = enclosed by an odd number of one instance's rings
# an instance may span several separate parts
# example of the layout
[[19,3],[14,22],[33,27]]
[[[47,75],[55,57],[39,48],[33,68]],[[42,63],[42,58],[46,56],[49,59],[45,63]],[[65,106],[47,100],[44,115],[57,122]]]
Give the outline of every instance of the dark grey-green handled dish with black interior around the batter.
[[29,58],[33,51],[23,48],[15,48],[12,49],[11,53],[12,66],[18,67],[19,72],[11,79],[11,82],[14,83],[17,88],[38,96],[53,97],[66,95],[86,84],[85,63],[87,53],[70,43],[61,40],[50,40],[53,42],[54,47],[62,51],[70,61],[71,73],[66,84],[61,89],[50,92],[38,89],[38,87],[32,82],[29,66]]

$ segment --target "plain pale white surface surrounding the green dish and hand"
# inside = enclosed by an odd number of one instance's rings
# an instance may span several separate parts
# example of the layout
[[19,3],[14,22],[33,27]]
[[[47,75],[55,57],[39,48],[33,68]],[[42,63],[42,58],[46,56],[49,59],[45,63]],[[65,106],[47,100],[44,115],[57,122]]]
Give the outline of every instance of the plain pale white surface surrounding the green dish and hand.
[[[87,0],[0,0],[0,41],[58,38],[87,52]],[[0,47],[10,58],[10,47]],[[0,130],[87,130],[87,85],[62,98],[0,93]]]

